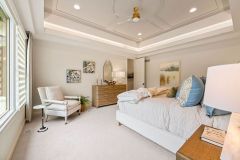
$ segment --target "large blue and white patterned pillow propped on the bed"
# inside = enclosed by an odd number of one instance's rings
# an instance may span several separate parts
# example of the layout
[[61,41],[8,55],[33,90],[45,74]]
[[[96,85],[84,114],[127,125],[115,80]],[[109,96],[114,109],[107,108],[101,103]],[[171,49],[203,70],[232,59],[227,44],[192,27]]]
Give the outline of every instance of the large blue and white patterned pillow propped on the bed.
[[202,80],[192,75],[182,83],[176,98],[182,107],[192,107],[200,103],[203,94]]

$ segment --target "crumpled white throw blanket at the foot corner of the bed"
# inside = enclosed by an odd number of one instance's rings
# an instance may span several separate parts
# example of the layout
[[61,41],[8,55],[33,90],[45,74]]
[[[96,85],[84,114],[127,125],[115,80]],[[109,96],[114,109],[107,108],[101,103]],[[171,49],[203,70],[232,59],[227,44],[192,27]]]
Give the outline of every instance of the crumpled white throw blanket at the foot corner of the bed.
[[131,90],[123,92],[117,96],[118,102],[130,102],[138,103],[141,99],[148,97],[148,89],[139,88],[137,90]]

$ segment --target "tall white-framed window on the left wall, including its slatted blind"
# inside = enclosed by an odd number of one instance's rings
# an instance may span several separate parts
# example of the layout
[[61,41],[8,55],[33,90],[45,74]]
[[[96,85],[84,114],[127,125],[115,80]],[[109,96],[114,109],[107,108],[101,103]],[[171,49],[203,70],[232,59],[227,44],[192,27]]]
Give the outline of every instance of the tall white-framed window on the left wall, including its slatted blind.
[[0,129],[26,104],[26,33],[0,1]]

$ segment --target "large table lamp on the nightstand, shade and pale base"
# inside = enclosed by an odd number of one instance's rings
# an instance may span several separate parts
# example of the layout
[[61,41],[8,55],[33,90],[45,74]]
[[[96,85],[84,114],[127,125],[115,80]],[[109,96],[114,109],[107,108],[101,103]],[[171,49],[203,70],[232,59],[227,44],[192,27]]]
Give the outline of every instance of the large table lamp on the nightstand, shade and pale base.
[[209,67],[204,104],[232,112],[222,160],[240,160],[240,64]]

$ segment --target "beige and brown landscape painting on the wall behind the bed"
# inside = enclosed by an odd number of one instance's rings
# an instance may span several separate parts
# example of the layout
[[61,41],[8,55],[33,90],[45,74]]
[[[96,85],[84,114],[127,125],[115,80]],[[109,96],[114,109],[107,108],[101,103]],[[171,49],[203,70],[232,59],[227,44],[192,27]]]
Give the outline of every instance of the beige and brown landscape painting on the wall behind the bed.
[[180,62],[160,64],[160,86],[177,87],[180,79]]

